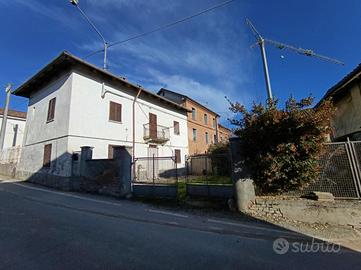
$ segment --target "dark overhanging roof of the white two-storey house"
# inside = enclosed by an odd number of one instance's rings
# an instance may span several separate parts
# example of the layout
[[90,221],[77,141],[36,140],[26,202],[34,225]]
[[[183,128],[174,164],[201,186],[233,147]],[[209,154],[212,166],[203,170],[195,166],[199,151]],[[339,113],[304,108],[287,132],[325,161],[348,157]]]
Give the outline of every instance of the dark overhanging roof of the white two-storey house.
[[138,92],[139,89],[142,89],[142,95],[146,95],[150,98],[154,98],[161,103],[173,107],[177,110],[188,112],[186,108],[180,106],[179,104],[172,102],[166,98],[163,98],[157,94],[154,94],[139,85],[135,85],[127,81],[125,78],[116,76],[106,70],[98,68],[97,66],[90,64],[67,51],[62,52],[58,57],[48,63],[44,68],[42,68],[38,73],[36,73],[33,77],[28,79],[24,84],[19,86],[13,94],[16,96],[22,97],[30,97],[30,93],[33,89],[39,89],[41,86],[48,84],[53,78],[59,77],[60,74],[65,71],[71,70],[74,67],[83,67],[89,71],[91,71],[93,76],[99,76],[104,79],[108,79],[110,81],[118,82],[127,86],[128,89],[134,90],[135,93]]

